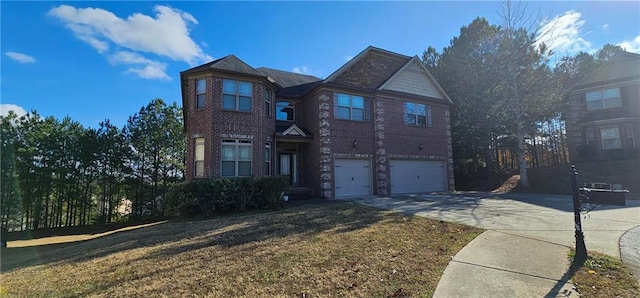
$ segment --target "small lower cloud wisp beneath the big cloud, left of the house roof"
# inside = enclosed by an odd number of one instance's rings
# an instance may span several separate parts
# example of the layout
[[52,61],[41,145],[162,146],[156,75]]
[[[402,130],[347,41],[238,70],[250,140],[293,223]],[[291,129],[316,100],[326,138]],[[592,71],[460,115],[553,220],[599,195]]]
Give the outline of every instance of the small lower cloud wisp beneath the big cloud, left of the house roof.
[[167,69],[165,63],[147,59],[138,53],[117,52],[109,57],[109,62],[113,65],[135,65],[135,67],[129,67],[127,72],[137,74],[143,79],[171,80],[171,77],[165,73],[165,69]]

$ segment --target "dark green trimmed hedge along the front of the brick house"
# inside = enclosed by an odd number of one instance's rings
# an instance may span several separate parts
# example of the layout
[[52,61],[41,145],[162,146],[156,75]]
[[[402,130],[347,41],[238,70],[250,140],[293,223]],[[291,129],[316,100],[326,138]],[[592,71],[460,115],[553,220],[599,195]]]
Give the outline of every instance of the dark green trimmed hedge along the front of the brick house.
[[165,195],[166,216],[280,208],[281,194],[289,187],[288,176],[197,179],[172,185]]

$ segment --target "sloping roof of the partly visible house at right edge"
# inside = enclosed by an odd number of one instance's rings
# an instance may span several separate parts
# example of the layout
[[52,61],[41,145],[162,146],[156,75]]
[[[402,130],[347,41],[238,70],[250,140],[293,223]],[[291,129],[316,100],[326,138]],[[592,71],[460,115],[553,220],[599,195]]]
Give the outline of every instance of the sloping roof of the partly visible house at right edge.
[[621,85],[638,80],[640,80],[640,55],[621,52],[578,81],[571,91]]

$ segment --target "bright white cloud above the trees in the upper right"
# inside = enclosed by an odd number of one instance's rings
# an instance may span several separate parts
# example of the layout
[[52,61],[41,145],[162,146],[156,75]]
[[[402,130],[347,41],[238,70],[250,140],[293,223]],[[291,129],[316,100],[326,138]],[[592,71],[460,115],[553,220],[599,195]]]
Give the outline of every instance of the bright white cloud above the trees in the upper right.
[[581,36],[584,24],[581,13],[567,11],[542,22],[538,32],[538,42],[545,43],[549,49],[560,54],[590,52],[591,42]]

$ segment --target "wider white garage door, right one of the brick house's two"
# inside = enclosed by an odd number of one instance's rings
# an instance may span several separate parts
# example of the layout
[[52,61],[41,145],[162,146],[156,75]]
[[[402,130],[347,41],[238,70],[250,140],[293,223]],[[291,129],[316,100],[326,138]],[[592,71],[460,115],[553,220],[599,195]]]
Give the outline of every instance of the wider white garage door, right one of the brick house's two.
[[444,191],[444,162],[391,160],[391,193]]

